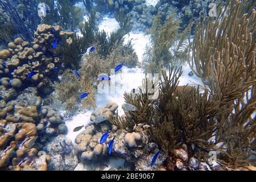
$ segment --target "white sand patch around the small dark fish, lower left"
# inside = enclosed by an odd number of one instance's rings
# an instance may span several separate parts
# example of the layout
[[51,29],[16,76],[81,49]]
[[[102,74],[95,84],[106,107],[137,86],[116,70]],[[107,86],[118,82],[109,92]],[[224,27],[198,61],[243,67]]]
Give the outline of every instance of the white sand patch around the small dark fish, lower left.
[[75,115],[71,120],[68,120],[65,122],[65,125],[68,127],[68,134],[66,135],[66,137],[71,139],[73,143],[75,143],[76,136],[85,129],[83,127],[80,131],[77,131],[77,132],[74,132],[73,130],[77,126],[87,125],[90,122],[91,114],[92,114],[92,111],[87,111],[84,114],[79,113]]

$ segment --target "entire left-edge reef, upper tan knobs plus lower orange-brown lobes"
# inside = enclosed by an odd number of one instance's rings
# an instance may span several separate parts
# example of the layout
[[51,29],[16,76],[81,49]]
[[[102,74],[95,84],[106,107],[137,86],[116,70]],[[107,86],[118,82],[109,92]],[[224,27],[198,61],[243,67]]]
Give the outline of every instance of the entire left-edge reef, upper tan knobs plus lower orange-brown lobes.
[[41,24],[33,43],[16,38],[0,52],[1,169],[48,169],[50,158],[38,156],[39,151],[49,137],[65,134],[67,127],[59,113],[42,106],[39,93],[52,92],[49,83],[56,78],[51,74],[56,75],[53,68],[61,65],[53,55],[54,39],[71,34],[59,26]]

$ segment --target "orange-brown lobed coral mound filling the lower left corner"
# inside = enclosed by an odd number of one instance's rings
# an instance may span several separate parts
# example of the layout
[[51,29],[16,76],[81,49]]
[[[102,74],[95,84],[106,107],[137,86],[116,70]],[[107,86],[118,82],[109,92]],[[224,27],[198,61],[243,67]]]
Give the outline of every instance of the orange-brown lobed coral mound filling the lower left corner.
[[[64,133],[67,127],[62,126],[61,115],[41,104],[36,89],[27,88],[1,109],[1,169],[47,169],[49,160],[40,163],[38,151],[47,138]],[[48,133],[49,129],[52,133]]]

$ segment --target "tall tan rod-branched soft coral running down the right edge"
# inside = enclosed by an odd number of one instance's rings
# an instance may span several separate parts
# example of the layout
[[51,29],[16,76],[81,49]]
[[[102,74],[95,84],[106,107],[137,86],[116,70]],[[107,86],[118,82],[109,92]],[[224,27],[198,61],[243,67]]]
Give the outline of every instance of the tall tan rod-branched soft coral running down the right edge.
[[[216,117],[218,162],[232,167],[255,164],[255,2],[228,1],[217,18],[198,20],[191,68],[228,105]],[[228,97],[229,96],[229,97]],[[217,98],[218,97],[218,98]]]

